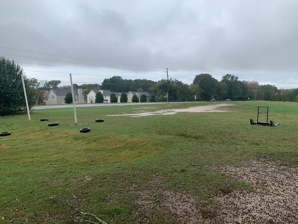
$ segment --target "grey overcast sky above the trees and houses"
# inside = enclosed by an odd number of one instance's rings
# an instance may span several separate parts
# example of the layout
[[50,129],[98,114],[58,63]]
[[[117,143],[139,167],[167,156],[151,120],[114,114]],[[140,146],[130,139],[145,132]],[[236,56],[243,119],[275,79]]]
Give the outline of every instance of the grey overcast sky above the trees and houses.
[[230,73],[298,88],[298,0],[1,0],[0,15],[0,56],[39,80],[158,80],[168,67],[186,83]]

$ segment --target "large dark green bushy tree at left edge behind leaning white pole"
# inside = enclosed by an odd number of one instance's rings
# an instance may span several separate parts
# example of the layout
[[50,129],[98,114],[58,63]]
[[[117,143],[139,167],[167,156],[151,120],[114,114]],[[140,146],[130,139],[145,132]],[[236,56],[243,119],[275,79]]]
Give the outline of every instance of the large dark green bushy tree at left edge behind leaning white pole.
[[[0,116],[27,112],[21,75],[23,69],[14,61],[0,57]],[[35,104],[34,90],[24,77],[29,110]]]

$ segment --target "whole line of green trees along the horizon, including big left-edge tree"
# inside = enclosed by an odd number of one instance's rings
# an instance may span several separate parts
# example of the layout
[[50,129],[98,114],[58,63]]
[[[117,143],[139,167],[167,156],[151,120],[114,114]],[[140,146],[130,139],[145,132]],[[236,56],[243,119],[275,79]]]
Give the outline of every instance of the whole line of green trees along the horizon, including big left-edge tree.
[[[35,78],[27,78],[24,75],[23,69],[18,64],[0,57],[0,115],[15,114],[26,110],[21,75],[24,76],[30,108],[35,104],[43,103],[50,89],[61,88],[60,80],[39,81]],[[167,92],[169,101],[230,99],[232,101],[265,100],[298,102],[298,89],[284,90],[269,84],[260,85],[256,81],[241,81],[237,76],[232,74],[224,75],[220,81],[210,74],[200,74],[195,76],[192,84],[186,84],[177,79],[161,79],[155,82],[148,79],[131,80],[123,79],[121,76],[113,76],[104,79],[101,85],[74,84],[74,88],[83,89],[85,94],[91,89],[105,89],[120,93],[127,93],[129,91],[150,92],[150,102],[166,100],[165,96]],[[114,96],[112,98],[113,101],[116,101]],[[145,96],[143,98],[145,99]],[[69,97],[69,99],[71,98]],[[127,96],[125,97],[123,95],[120,100],[125,102],[125,99],[127,99]],[[134,101],[139,102],[141,99],[134,97]]]

